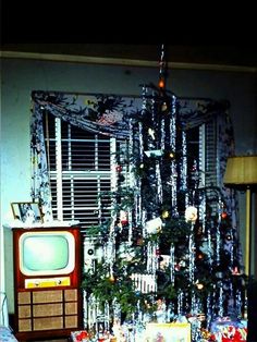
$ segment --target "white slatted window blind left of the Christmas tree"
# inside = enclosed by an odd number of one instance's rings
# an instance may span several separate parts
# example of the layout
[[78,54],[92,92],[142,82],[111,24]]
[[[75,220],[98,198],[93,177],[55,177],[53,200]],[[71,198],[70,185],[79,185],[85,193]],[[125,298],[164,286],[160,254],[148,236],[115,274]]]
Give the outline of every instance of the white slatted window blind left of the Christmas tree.
[[99,194],[115,187],[115,139],[53,115],[45,130],[53,218],[79,220],[83,229],[101,224],[110,218],[111,198]]

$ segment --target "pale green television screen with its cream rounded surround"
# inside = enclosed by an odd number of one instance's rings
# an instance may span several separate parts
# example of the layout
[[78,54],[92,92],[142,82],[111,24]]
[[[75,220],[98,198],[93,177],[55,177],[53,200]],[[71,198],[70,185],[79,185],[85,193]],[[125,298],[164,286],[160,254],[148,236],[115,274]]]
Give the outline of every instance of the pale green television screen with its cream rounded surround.
[[25,276],[68,274],[75,267],[75,239],[70,232],[26,232],[19,244]]

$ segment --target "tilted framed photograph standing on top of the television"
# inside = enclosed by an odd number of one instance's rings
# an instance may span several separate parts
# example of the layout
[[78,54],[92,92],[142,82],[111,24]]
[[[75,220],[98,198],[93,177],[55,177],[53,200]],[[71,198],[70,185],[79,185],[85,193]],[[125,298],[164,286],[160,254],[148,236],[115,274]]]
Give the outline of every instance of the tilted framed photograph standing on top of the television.
[[12,203],[11,206],[14,219],[27,224],[42,223],[42,215],[38,203],[17,201]]

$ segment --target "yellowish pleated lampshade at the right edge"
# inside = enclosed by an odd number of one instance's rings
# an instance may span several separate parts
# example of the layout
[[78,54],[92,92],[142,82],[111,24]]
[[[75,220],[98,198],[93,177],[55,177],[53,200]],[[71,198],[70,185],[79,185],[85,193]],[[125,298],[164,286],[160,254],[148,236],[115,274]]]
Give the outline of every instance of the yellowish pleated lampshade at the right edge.
[[257,156],[229,157],[223,179],[224,184],[257,184]]

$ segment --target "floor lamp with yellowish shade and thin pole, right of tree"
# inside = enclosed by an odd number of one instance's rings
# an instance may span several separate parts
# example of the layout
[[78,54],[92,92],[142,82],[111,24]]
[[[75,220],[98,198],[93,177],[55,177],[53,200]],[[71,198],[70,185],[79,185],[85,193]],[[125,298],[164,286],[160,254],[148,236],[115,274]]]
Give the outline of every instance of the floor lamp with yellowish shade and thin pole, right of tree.
[[246,190],[246,222],[245,222],[245,274],[250,273],[250,188],[257,184],[257,156],[229,157],[223,183],[227,186]]

